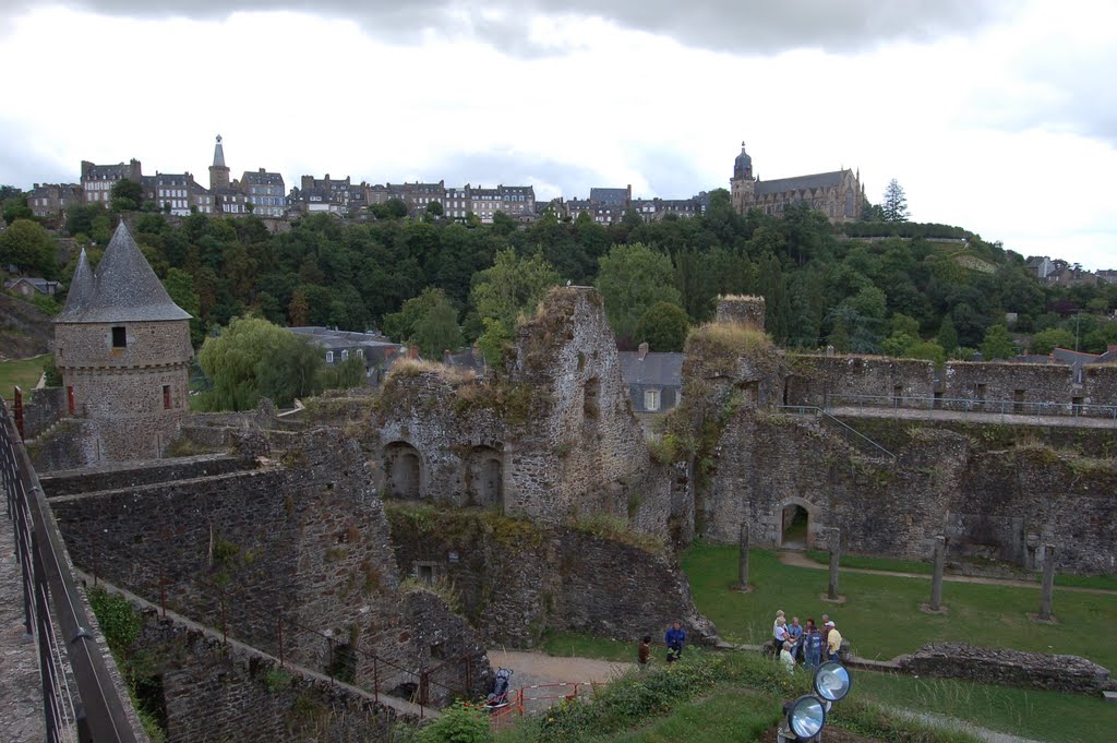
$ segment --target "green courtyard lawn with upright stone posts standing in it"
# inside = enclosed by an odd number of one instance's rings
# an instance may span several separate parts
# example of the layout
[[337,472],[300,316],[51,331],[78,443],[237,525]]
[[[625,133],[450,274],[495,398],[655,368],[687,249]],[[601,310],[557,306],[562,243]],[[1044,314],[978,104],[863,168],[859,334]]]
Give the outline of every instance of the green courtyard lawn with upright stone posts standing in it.
[[[1028,619],[1039,609],[1039,585],[1015,588],[946,582],[945,616],[919,611],[930,598],[930,581],[919,578],[844,573],[841,606],[824,603],[827,572],[791,568],[774,552],[750,554],[751,593],[731,591],[737,580],[737,549],[696,543],[682,555],[698,610],[717,625],[718,634],[738,642],[760,644],[768,638],[776,609],[787,617],[818,619],[823,612],[838,623],[853,651],[867,658],[892,658],[927,642],[965,641],[972,645],[1069,652],[1117,669],[1117,596],[1072,591],[1054,592],[1059,625],[1037,625]],[[1088,640],[1083,641],[1083,638]]]

